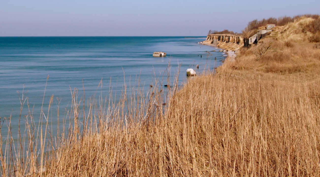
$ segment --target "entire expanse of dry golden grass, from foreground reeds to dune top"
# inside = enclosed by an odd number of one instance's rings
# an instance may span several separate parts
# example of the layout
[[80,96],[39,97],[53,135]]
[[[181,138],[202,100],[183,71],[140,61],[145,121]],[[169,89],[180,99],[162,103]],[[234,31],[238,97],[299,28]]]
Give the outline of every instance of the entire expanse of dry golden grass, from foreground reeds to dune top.
[[2,176],[320,176],[318,21],[295,18],[179,89],[124,87],[118,103],[75,91],[57,134],[28,115],[14,148],[0,137]]

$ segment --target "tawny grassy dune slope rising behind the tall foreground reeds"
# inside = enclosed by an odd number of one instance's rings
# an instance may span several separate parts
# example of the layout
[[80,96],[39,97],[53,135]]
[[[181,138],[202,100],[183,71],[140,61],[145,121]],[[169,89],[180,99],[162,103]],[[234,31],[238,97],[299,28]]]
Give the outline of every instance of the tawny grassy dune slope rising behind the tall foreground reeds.
[[[301,18],[276,29],[259,44],[241,49],[235,61],[226,61],[218,72],[259,72],[274,74],[318,75],[320,51],[308,42],[312,34],[306,30],[311,18]],[[270,48],[267,47],[270,45]]]

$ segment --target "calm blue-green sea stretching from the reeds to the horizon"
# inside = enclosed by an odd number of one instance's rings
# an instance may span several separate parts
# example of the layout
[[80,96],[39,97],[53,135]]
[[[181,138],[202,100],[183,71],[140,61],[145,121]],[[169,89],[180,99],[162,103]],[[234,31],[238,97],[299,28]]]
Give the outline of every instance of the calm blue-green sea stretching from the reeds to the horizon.
[[[163,87],[168,68],[171,76],[179,74],[178,84],[183,85],[188,68],[197,74],[211,72],[225,58],[219,49],[199,44],[204,40],[205,36],[0,37],[0,122],[11,117],[16,132],[19,117],[22,126],[29,112],[39,117],[52,95],[52,109],[59,105],[60,115],[65,115],[74,89],[79,100],[83,90],[86,98],[107,97],[112,90],[118,101],[124,85],[148,90],[156,78]],[[166,56],[153,57],[153,52]],[[54,117],[50,121],[55,122]]]

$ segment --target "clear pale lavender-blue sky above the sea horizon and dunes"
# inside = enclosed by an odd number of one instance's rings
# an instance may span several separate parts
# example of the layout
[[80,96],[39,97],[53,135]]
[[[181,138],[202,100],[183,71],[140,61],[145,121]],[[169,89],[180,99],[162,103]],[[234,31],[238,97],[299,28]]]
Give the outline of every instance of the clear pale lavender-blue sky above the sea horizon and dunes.
[[320,0],[1,0],[0,36],[206,36],[319,7]]

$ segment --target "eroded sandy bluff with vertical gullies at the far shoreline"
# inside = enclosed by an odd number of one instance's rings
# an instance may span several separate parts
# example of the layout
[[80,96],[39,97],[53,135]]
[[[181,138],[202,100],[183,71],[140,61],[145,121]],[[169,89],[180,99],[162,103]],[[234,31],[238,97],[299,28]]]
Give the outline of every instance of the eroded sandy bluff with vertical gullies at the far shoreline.
[[244,39],[242,36],[236,36],[231,34],[209,34],[205,41],[201,44],[212,44],[219,48],[226,50],[239,50],[244,46]]

